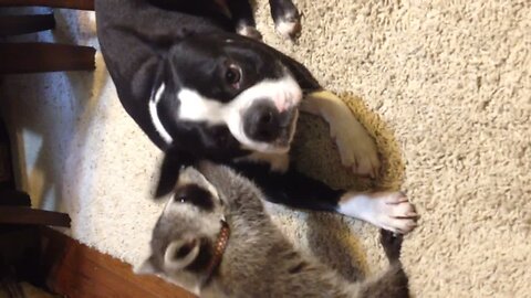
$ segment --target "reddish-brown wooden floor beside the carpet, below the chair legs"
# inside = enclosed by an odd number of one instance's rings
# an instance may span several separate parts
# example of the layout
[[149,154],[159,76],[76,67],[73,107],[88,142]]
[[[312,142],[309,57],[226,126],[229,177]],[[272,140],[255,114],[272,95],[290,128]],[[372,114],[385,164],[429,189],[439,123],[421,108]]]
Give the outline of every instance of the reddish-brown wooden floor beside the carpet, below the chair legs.
[[138,276],[132,266],[50,228],[42,230],[48,287],[66,297],[186,297],[188,291],[157,277]]

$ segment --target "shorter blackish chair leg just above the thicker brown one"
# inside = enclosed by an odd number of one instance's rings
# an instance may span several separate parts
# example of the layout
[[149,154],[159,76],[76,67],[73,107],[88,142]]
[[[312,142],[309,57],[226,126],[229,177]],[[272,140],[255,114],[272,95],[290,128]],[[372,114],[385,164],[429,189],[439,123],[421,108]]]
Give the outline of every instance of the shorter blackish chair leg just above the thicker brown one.
[[54,28],[55,19],[52,13],[0,17],[0,36],[33,33]]

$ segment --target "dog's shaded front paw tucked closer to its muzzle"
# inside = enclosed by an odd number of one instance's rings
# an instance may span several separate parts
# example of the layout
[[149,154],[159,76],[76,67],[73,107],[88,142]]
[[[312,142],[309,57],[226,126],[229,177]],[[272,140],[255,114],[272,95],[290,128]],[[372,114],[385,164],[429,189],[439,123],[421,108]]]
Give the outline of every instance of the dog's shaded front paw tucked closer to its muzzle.
[[374,139],[352,114],[342,118],[330,127],[341,163],[356,174],[375,178],[381,163]]

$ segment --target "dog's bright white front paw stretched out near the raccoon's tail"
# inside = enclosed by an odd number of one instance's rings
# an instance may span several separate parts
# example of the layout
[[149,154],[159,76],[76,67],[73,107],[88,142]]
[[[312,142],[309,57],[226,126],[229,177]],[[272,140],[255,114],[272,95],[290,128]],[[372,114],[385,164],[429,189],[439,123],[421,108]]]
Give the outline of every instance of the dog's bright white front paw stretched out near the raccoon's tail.
[[339,212],[399,234],[412,232],[418,219],[403,192],[351,195],[342,199]]

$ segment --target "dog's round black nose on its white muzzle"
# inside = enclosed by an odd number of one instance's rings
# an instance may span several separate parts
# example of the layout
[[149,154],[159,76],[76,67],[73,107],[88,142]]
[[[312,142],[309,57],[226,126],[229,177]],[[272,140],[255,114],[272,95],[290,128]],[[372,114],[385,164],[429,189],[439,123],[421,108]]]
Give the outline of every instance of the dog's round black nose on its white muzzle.
[[271,100],[257,100],[243,117],[243,130],[252,140],[273,141],[282,132],[282,115]]

